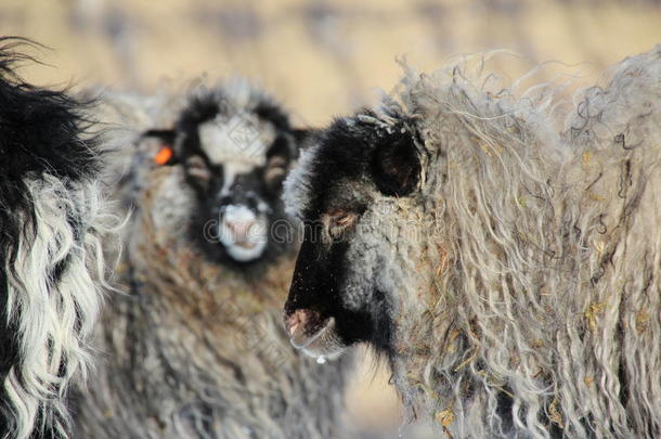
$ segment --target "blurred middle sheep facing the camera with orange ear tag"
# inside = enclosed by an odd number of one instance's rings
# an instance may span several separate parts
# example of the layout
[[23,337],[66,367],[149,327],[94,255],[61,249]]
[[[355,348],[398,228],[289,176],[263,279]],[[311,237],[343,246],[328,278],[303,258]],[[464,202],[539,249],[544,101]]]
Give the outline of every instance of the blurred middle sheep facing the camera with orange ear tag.
[[131,116],[153,114],[142,99],[104,99],[125,115],[106,120],[144,131],[115,190],[134,209],[118,279],[128,295],[104,312],[78,436],[346,437],[347,361],[298,356],[281,324],[297,241],[280,194],[304,132],[243,80],[193,91],[182,108],[161,100],[172,129]]

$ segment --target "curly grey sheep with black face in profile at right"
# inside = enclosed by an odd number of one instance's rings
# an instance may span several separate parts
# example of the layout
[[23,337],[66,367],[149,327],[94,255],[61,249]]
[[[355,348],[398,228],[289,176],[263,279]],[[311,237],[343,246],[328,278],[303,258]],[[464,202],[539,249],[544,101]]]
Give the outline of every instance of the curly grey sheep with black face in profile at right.
[[301,155],[291,343],[370,344],[441,436],[661,437],[661,47],[565,128],[552,85],[478,61],[409,70]]

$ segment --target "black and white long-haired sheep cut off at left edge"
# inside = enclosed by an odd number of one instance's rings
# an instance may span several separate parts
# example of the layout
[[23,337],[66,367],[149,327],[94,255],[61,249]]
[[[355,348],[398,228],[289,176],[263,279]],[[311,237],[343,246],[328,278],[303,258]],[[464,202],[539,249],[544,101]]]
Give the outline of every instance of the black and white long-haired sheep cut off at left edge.
[[86,105],[15,72],[30,44],[0,39],[0,437],[66,439],[116,224]]

